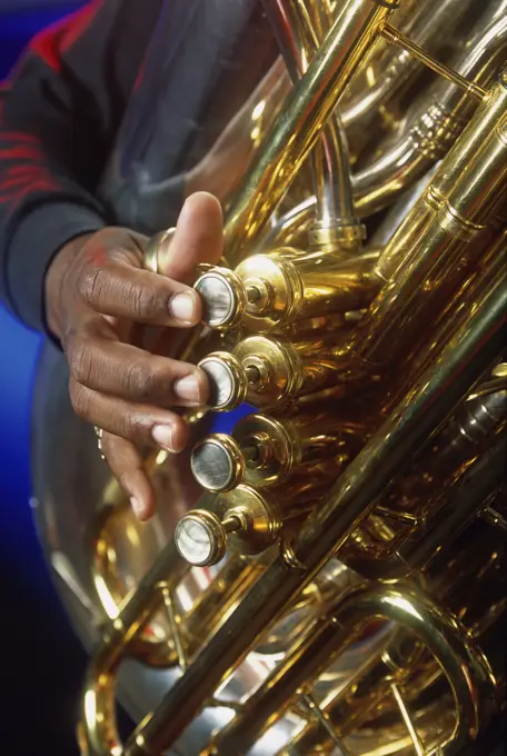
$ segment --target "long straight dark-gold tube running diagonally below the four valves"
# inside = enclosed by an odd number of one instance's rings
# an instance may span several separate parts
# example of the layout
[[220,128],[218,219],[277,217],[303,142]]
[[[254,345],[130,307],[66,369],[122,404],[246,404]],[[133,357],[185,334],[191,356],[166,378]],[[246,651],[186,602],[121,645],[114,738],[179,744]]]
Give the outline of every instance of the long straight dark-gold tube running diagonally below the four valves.
[[[241,663],[256,639],[288,608],[327,559],[368,516],[375,500],[449,416],[504,347],[505,285],[491,288],[466,325],[370,438],[294,543],[306,573],[276,560],[129,739],[122,756],[155,756],[181,735],[207,698]],[[168,550],[173,553],[171,546]],[[170,567],[168,559],[167,567]],[[146,598],[145,598],[146,600]],[[137,599],[139,601],[139,599]],[[130,606],[125,609],[135,621]],[[128,623],[126,623],[128,625]],[[100,752],[98,752],[100,753]],[[106,752],[107,753],[107,752]]]

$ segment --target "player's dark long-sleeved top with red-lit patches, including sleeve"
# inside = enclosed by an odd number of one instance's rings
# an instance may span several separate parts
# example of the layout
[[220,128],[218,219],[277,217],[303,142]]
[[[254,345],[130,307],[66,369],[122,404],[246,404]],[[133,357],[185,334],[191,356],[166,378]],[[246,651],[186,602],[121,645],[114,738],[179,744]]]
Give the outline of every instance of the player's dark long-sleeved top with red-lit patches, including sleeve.
[[44,330],[44,276],[71,239],[173,222],[217,113],[275,59],[256,13],[257,0],[93,0],[32,40],[0,89],[0,296],[14,317]]

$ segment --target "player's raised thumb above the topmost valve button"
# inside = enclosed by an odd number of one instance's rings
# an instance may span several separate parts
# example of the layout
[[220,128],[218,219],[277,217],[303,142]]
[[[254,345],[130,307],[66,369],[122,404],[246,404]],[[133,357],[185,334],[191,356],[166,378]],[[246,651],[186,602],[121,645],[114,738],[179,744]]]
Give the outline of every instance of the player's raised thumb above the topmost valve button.
[[223,218],[220,202],[205,191],[186,200],[175,235],[159,251],[159,271],[177,281],[191,282],[200,262],[216,265],[223,251]]

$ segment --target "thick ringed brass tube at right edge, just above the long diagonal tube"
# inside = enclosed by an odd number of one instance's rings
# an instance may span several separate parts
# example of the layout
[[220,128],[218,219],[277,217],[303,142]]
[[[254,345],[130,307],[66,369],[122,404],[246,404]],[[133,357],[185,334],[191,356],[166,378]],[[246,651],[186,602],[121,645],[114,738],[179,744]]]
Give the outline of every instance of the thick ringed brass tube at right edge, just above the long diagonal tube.
[[[443,311],[446,297],[448,300],[467,278],[477,255],[471,242],[488,231],[507,173],[506,106],[507,78],[503,73],[384,249],[378,275],[386,286],[355,332],[357,350],[371,366],[382,365],[387,354],[390,359],[395,354],[411,354],[421,322],[429,328]],[[491,129],[494,123],[497,126]],[[479,135],[480,147],[464,163]]]

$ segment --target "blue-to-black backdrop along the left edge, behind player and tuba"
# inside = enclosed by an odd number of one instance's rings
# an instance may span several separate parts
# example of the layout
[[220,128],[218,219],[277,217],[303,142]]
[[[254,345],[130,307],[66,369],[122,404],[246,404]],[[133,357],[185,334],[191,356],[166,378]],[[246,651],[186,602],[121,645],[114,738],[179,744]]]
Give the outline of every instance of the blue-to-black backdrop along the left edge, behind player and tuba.
[[[28,40],[82,2],[0,0],[0,79]],[[73,756],[86,658],[36,537],[29,421],[39,337],[0,305],[0,655],[2,756]]]

